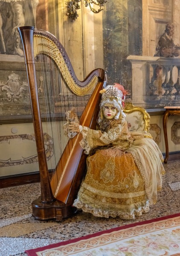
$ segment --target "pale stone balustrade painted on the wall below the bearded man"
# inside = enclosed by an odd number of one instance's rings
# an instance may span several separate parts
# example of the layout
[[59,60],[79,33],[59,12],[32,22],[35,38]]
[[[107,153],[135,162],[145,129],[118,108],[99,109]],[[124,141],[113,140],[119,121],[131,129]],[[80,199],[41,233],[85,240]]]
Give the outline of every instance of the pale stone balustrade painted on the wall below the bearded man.
[[180,105],[180,58],[129,55],[132,102],[143,108]]

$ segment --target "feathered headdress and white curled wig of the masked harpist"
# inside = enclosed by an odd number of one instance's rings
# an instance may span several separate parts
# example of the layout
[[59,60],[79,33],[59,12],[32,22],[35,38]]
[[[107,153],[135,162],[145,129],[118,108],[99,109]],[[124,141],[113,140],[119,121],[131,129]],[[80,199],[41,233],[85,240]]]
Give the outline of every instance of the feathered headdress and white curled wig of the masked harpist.
[[[125,113],[123,113],[123,108],[125,96],[128,94],[128,91],[125,90],[121,84],[114,83],[114,85],[107,85],[107,87],[101,90],[100,93],[102,93],[100,112],[102,112],[102,108],[106,103],[110,103],[113,104],[117,109],[117,113],[114,119],[119,119],[119,116],[125,117]],[[101,120],[102,116],[99,116],[98,121],[101,122]]]

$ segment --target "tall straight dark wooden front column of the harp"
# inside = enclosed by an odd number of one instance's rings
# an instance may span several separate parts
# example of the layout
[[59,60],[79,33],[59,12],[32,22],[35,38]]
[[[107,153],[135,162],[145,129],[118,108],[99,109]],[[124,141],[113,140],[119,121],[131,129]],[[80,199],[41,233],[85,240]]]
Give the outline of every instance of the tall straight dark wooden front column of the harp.
[[[38,162],[40,169],[40,179],[41,184],[41,201],[46,203],[49,201],[54,201],[55,198],[52,194],[52,189],[49,180],[48,167],[46,162],[46,153],[44,147],[43,129],[41,123],[41,113],[39,108],[38,100],[38,89],[35,74],[35,59],[34,59],[34,49],[33,49],[33,33],[34,27],[24,26],[18,28],[20,38],[23,44],[24,58],[26,64],[26,72],[28,74],[28,85],[29,93],[32,107],[32,118],[35,129],[35,139],[38,152]],[[29,79],[30,78],[30,79]],[[40,165],[41,163],[41,165]],[[42,164],[44,163],[44,164]]]

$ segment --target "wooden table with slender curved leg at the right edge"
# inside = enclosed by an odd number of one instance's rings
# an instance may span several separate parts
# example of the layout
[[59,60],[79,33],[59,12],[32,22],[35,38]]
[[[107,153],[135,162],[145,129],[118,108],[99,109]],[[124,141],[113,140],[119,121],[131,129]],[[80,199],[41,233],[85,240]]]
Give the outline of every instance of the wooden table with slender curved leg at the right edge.
[[165,159],[164,163],[168,163],[169,149],[168,149],[168,137],[167,137],[167,123],[168,117],[173,115],[180,116],[180,106],[164,107],[165,113],[163,116],[163,131],[164,131],[164,140],[165,140]]

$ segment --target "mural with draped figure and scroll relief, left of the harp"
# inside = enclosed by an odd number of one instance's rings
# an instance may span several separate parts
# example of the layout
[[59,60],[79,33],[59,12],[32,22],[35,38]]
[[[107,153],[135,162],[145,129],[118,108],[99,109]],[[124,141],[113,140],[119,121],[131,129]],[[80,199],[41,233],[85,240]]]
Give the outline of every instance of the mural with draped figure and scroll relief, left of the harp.
[[45,21],[42,0],[0,0],[0,115],[9,121],[13,116],[31,116],[26,67],[17,27],[36,27],[37,23],[40,29],[45,29]]

